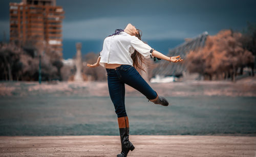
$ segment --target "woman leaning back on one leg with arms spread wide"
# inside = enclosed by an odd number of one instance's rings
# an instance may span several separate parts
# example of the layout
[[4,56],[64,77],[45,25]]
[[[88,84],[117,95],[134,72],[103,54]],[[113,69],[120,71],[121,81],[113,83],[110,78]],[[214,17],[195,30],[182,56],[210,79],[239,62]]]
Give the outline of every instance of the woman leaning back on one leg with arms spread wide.
[[[141,32],[133,25],[128,24],[124,30],[117,29],[114,34],[105,38],[103,49],[95,64],[87,64],[93,68],[103,66],[108,75],[108,86],[111,100],[115,106],[118,118],[119,133],[122,151],[117,156],[127,156],[135,147],[129,141],[129,120],[124,105],[124,83],[141,92],[146,98],[163,106],[168,106],[168,101],[158,96],[150,85],[141,77],[137,70],[143,70],[144,58],[164,59],[169,62],[180,62],[180,56],[167,57],[152,49],[141,41]],[[136,70],[137,69],[137,70]]]

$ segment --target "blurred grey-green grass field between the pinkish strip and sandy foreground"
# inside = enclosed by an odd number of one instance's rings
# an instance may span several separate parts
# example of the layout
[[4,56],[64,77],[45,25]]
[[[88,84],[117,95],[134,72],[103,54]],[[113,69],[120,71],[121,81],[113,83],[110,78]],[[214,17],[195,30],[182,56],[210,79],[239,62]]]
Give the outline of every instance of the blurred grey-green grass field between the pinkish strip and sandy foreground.
[[[256,134],[255,97],[166,98],[172,105],[164,107],[145,97],[126,97],[130,134]],[[2,97],[0,135],[119,135],[119,130],[109,97],[45,94]]]

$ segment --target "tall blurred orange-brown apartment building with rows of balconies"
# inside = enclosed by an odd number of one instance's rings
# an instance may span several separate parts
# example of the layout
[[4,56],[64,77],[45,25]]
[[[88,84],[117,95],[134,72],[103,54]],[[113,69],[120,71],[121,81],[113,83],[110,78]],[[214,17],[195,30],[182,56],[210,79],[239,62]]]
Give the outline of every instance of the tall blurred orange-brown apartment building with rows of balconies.
[[21,46],[51,47],[62,55],[64,11],[56,0],[10,3],[10,41]]

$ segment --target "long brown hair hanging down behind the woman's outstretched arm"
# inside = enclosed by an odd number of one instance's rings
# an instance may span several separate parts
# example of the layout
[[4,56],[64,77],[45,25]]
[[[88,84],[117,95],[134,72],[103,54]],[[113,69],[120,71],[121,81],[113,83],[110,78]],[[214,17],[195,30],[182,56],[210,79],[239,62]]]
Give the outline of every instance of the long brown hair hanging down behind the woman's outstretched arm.
[[[142,32],[139,29],[137,29],[137,32],[138,34],[136,34],[135,36],[141,40]],[[133,66],[137,71],[141,72],[142,70],[146,72],[142,67],[143,64],[146,64],[144,56],[142,56],[137,50],[134,50],[134,53],[131,55],[131,58],[133,59]]]

